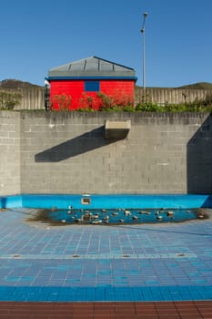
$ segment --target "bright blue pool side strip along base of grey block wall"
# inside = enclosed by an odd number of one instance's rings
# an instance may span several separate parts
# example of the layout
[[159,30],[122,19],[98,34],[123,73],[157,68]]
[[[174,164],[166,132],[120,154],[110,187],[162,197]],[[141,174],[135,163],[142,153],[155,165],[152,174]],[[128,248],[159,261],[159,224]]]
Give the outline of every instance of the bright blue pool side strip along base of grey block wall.
[[1,208],[68,209],[191,209],[211,208],[212,195],[91,195],[90,204],[83,204],[82,195],[23,194],[0,197]]

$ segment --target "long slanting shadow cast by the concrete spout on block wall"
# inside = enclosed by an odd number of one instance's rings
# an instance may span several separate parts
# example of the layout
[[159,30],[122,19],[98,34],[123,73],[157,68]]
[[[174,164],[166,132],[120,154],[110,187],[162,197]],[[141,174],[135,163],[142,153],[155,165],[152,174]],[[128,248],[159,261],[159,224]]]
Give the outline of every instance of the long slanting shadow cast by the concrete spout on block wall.
[[104,132],[105,126],[86,132],[75,139],[69,139],[51,149],[45,149],[35,154],[35,162],[66,160],[116,142],[116,139],[104,139]]

